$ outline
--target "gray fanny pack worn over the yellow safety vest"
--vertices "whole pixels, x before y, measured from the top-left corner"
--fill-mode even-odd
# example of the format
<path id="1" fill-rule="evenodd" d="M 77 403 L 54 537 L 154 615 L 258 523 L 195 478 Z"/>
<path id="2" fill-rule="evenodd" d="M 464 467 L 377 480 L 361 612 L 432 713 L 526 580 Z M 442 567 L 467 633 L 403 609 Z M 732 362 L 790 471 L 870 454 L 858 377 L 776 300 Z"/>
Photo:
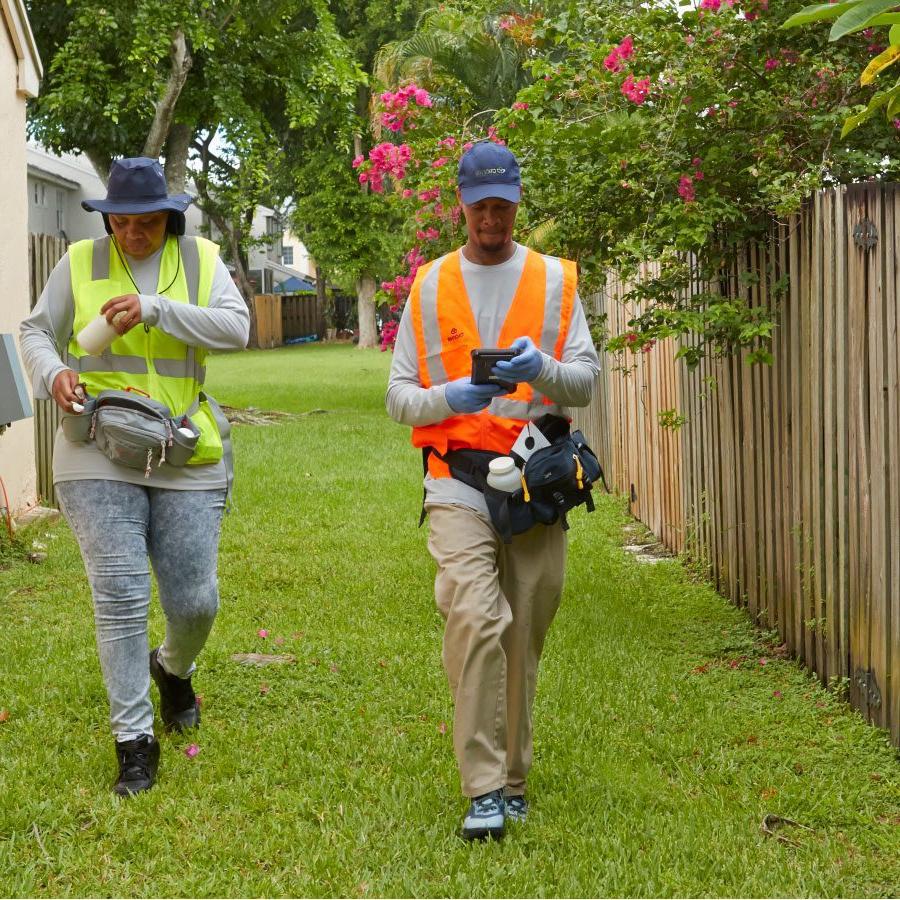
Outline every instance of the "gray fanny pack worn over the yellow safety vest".
<path id="1" fill-rule="evenodd" d="M 64 416 L 63 434 L 76 443 L 94 441 L 114 463 L 142 469 L 184 466 L 194 455 L 200 431 L 188 410 L 173 416 L 164 403 L 132 391 L 101 391 L 84 402 L 84 412 Z M 230 479 L 229 479 L 230 482 Z"/>

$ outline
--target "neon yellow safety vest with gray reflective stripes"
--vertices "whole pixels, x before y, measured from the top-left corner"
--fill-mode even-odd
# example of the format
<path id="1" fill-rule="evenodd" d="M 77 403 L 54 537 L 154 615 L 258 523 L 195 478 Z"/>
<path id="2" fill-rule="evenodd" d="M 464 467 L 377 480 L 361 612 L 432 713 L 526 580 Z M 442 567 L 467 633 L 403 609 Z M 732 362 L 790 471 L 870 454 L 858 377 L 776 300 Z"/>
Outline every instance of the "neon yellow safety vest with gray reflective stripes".
<path id="1" fill-rule="evenodd" d="M 188 465 L 222 458 L 222 436 L 200 392 L 206 377 L 206 353 L 152 326 L 138 325 L 112 342 L 101 356 L 81 348 L 75 335 L 100 314 L 100 307 L 123 294 L 136 294 L 124 257 L 111 237 L 78 241 L 69 247 L 75 321 L 66 364 L 78 373 L 88 393 L 132 388 L 165 403 L 173 416 L 189 413 L 200 430 Z M 199 237 L 166 236 L 157 293 L 176 303 L 208 306 L 219 247 Z"/>

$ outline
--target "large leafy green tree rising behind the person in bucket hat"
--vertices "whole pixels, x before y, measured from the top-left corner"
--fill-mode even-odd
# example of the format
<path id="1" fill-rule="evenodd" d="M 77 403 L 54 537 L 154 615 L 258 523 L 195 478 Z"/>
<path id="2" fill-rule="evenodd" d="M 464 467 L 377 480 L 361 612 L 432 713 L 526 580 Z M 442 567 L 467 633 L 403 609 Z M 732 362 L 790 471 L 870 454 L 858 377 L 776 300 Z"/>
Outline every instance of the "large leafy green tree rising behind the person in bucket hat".
<path id="1" fill-rule="evenodd" d="M 30 0 L 46 79 L 32 134 L 83 151 L 105 178 L 115 156 L 189 160 L 201 204 L 239 276 L 258 204 L 278 206 L 304 132 L 355 100 L 361 74 L 325 0 Z M 249 289 L 244 277 L 245 293 Z"/>

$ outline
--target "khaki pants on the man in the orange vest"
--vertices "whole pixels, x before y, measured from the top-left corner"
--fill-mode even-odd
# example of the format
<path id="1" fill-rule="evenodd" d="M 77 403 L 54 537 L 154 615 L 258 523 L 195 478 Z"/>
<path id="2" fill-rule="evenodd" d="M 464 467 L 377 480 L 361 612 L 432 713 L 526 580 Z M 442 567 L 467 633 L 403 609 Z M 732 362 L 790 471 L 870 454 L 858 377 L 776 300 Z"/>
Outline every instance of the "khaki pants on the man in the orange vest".
<path id="1" fill-rule="evenodd" d="M 522 794 L 538 661 L 562 594 L 565 532 L 538 525 L 504 544 L 466 507 L 429 504 L 428 518 L 463 794 Z"/>

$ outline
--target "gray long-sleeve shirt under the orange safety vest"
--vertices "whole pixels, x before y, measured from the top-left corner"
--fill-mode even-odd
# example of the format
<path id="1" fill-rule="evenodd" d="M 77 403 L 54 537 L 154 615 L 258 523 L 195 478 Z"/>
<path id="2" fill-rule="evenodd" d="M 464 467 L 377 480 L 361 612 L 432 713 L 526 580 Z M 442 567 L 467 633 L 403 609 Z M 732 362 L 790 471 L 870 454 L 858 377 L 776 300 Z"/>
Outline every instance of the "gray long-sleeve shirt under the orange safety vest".
<path id="1" fill-rule="evenodd" d="M 456 251 L 459 252 L 459 251 Z M 516 244 L 513 255 L 495 266 L 470 262 L 460 252 L 460 268 L 482 344 L 496 347 L 525 266 L 527 249 Z M 428 277 L 436 275 L 432 270 Z M 600 371 L 600 361 L 577 294 L 569 333 L 559 360 L 544 354 L 534 388 L 561 406 L 587 406 Z M 403 310 L 388 381 L 388 415 L 402 425 L 433 425 L 457 415 L 447 403 L 446 385 L 422 387 L 409 304 Z M 450 503 L 488 515 L 484 495 L 455 478 L 425 478 L 426 505 Z"/>

